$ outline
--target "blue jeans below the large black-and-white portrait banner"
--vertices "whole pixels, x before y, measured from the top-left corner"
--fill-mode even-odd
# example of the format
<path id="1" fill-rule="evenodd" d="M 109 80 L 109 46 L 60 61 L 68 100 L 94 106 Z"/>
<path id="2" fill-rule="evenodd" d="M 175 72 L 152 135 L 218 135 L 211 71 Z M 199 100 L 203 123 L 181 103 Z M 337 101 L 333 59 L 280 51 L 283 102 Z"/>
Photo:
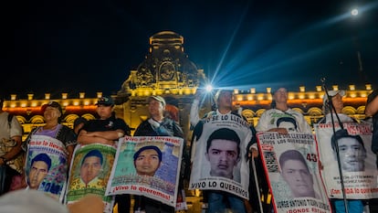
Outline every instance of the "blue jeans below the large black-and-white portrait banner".
<path id="1" fill-rule="evenodd" d="M 226 192 L 208 191 L 207 213 L 222 213 L 226 209 L 231 209 L 234 213 L 245 213 L 244 201 L 241 197 L 236 197 Z"/>

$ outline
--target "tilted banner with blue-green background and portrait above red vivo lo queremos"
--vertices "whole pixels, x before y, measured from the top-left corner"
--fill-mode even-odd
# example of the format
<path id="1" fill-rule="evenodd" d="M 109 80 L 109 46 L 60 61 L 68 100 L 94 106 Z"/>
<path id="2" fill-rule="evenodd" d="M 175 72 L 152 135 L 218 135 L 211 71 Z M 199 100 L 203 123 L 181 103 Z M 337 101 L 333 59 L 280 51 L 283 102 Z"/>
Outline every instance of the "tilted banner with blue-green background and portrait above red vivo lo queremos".
<path id="1" fill-rule="evenodd" d="M 107 195 L 143 195 L 175 207 L 182 154 L 182 138 L 121 138 Z"/>

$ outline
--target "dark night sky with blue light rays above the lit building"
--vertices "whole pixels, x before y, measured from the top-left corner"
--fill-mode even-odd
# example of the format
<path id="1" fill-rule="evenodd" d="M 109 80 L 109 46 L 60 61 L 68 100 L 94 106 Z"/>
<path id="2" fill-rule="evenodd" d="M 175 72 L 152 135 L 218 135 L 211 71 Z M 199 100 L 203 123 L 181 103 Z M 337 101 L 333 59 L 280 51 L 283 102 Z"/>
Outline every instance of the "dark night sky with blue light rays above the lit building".
<path id="1" fill-rule="evenodd" d="M 323 77 L 328 87 L 378 87 L 377 0 L 11 2 L 1 9 L 3 47 L 15 41 L 2 59 L 5 95 L 116 93 L 163 30 L 184 37 L 215 87 L 313 91 Z"/>

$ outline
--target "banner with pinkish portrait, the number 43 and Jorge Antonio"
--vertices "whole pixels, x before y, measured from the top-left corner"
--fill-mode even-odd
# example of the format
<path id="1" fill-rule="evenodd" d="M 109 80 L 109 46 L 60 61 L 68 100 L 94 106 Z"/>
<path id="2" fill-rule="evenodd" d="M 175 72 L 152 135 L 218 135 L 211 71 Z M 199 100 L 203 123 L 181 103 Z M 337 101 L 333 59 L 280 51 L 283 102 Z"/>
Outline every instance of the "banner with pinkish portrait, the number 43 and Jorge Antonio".
<path id="1" fill-rule="evenodd" d="M 312 134 L 258 133 L 257 141 L 275 212 L 331 212 Z"/>

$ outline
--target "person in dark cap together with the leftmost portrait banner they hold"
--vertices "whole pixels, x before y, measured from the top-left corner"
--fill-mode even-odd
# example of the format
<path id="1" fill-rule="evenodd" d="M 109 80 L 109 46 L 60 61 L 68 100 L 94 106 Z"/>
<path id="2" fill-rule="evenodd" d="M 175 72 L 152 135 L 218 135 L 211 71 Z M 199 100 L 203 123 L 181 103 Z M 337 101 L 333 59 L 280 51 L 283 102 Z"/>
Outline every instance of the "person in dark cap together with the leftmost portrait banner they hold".
<path id="1" fill-rule="evenodd" d="M 27 156 L 27 184 L 29 188 L 47 192 L 62 200 L 66 191 L 64 186 L 67 182 L 68 167 L 77 144 L 76 136 L 72 129 L 60 124 L 63 111 L 57 101 L 44 104 L 41 110 L 46 124 L 29 133 L 23 144 Z M 35 173 L 44 175 L 39 176 Z M 39 176 L 38 180 L 35 179 L 36 176 Z"/>

